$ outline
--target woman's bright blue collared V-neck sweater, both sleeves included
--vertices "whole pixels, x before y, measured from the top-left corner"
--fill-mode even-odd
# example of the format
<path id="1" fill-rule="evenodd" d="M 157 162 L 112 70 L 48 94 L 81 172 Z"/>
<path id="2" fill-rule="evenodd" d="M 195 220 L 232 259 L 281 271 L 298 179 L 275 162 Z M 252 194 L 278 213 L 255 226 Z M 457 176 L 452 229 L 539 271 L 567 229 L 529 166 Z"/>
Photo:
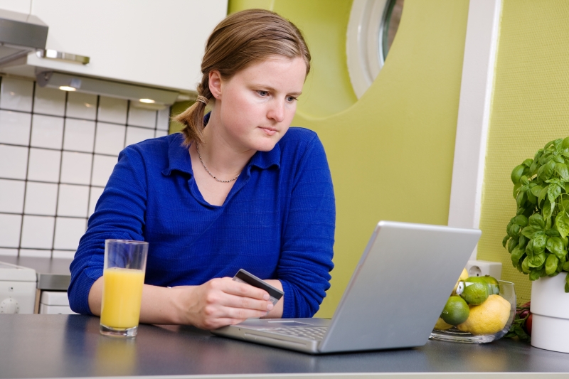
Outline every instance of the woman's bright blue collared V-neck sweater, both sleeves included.
<path id="1" fill-rule="evenodd" d="M 144 282 L 199 285 L 240 268 L 279 279 L 283 317 L 310 317 L 329 289 L 334 190 L 317 134 L 290 128 L 257 151 L 221 206 L 204 201 L 181 134 L 128 146 L 100 196 L 71 263 L 71 309 L 102 276 L 105 240 L 149 242 Z"/>

